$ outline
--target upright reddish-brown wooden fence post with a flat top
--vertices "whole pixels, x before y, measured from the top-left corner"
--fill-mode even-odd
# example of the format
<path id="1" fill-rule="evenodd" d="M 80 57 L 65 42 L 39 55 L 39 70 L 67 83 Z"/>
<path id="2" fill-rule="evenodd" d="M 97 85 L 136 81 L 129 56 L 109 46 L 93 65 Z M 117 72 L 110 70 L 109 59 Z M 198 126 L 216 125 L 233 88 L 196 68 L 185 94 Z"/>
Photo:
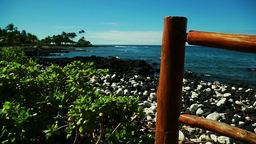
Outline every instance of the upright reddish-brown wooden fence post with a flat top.
<path id="1" fill-rule="evenodd" d="M 187 18 L 164 17 L 160 81 L 157 91 L 156 144 L 177 144 Z"/>

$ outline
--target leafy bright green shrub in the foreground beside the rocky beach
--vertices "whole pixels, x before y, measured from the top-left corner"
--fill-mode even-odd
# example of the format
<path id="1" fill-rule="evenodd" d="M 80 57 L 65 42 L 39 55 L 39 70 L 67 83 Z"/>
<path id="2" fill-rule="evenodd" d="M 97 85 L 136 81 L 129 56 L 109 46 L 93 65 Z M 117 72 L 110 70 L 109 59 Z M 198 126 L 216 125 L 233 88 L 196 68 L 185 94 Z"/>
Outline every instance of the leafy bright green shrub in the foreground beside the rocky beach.
<path id="1" fill-rule="evenodd" d="M 90 83 L 108 70 L 74 61 L 42 71 L 32 60 L 22 64 L 20 49 L 9 50 L 14 54 L 0 52 L 2 143 L 154 143 L 140 131 L 144 112 L 138 98 L 100 94 Z"/>

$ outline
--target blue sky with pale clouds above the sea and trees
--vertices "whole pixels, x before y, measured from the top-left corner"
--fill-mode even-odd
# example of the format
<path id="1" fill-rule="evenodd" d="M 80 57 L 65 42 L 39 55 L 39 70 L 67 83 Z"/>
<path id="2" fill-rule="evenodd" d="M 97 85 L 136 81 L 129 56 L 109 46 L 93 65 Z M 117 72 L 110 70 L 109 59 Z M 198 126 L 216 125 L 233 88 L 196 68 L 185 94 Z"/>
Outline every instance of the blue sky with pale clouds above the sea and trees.
<path id="1" fill-rule="evenodd" d="M 0 27 L 13 23 L 41 40 L 85 30 L 92 44 L 161 45 L 164 16 L 187 31 L 256 35 L 256 0 L 0 0 Z"/>

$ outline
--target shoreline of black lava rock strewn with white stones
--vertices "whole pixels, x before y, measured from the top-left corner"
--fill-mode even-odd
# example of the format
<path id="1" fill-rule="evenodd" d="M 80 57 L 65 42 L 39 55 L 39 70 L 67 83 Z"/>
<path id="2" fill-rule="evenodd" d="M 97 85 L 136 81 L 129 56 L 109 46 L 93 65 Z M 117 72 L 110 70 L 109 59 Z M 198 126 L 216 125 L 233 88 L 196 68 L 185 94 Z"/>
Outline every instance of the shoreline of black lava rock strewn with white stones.
<path id="1" fill-rule="evenodd" d="M 34 54 L 31 50 L 29 52 L 31 55 L 28 56 L 38 56 L 36 50 Z M 26 54 L 28 54 L 28 51 Z M 77 56 L 74 58 L 31 57 L 31 59 L 37 60 L 38 67 L 42 70 L 51 64 L 66 66 L 74 60 L 94 62 L 98 69 L 108 68 L 109 75 L 94 77 L 90 80 L 92 86 L 106 85 L 107 90 L 97 89 L 100 93 L 139 96 L 139 106 L 146 112 L 144 122 L 147 127 L 144 130 L 154 129 L 157 114 L 156 91 L 159 78 L 154 76 L 155 69 L 145 61 L 97 56 Z M 256 133 L 256 87 L 246 84 L 210 83 L 196 79 L 194 73 L 184 72 L 181 111 Z M 198 144 L 243 144 L 184 124 L 180 124 L 180 140 L 198 142 Z"/>

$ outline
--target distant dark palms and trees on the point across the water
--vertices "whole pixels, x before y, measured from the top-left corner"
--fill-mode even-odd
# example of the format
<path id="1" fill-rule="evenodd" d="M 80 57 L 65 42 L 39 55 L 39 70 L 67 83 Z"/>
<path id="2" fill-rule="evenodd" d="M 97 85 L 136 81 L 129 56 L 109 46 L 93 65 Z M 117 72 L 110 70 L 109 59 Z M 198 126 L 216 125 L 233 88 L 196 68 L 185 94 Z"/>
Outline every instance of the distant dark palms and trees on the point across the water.
<path id="1" fill-rule="evenodd" d="M 5 29 L 0 28 L 0 46 L 92 46 L 89 41 L 86 41 L 84 38 L 84 30 L 78 32 L 80 34 L 80 39 L 75 42 L 77 34 L 75 32 L 62 32 L 58 35 L 47 36 L 42 40 L 39 40 L 38 37 L 34 34 L 27 33 L 26 30 L 21 32 L 18 30 L 14 24 L 8 24 Z"/>

